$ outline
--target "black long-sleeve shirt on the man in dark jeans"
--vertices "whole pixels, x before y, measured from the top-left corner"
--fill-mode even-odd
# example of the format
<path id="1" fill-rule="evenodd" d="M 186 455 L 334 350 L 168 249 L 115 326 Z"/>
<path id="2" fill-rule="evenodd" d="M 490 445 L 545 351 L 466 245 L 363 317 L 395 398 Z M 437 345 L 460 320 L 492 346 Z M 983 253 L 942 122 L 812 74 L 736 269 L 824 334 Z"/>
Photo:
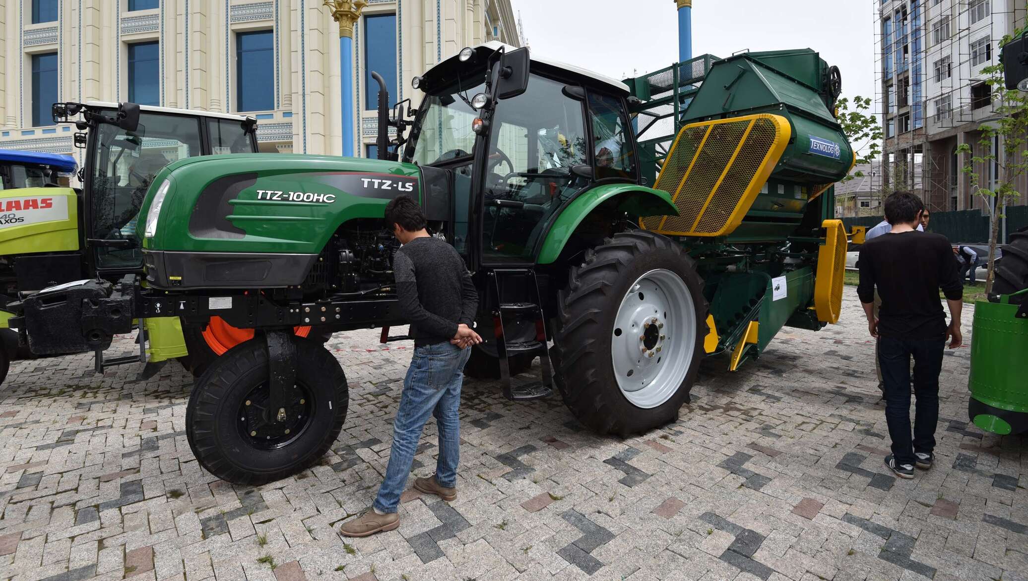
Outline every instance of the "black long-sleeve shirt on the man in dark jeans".
<path id="1" fill-rule="evenodd" d="M 939 298 L 963 297 L 960 269 L 949 241 L 942 234 L 902 232 L 884 234 L 860 246 L 857 261 L 860 283 L 856 293 L 865 304 L 882 299 L 878 334 L 896 339 L 946 337 L 946 313 Z"/>

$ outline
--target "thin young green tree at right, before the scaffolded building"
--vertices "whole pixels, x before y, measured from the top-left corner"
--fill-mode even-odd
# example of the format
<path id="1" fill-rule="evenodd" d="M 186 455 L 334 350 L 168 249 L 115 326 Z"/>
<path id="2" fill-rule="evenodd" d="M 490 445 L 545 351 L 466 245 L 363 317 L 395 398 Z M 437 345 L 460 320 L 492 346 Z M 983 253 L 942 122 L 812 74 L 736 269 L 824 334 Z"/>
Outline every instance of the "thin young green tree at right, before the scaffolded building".
<path id="1" fill-rule="evenodd" d="M 1005 36 L 1000 46 L 1012 38 L 1009 35 Z M 996 116 L 979 127 L 982 131 L 979 155 L 975 155 L 968 144 L 958 147 L 957 153 L 970 154 L 970 160 L 962 170 L 970 179 L 971 192 L 990 208 L 989 262 L 985 278 L 985 292 L 989 294 L 992 292 L 994 277 L 999 219 L 1002 218 L 1003 208 L 1021 197 L 1021 192 L 1017 189 L 1018 182 L 1028 172 L 1028 94 L 1006 88 L 1002 64 L 985 67 L 981 74 L 991 88 L 993 112 Z M 999 139 L 998 151 L 993 147 L 996 138 Z M 975 170 L 976 165 L 981 167 L 990 164 L 999 169 L 991 184 Z"/>

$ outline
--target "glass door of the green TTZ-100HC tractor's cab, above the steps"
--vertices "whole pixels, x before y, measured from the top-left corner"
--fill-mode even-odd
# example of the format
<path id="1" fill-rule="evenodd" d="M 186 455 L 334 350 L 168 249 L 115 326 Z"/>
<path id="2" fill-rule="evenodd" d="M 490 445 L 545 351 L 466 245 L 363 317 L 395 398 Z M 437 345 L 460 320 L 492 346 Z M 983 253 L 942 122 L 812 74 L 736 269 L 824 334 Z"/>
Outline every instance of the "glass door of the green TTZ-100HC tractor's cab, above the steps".
<path id="1" fill-rule="evenodd" d="M 534 264 L 550 219 L 587 183 L 582 94 L 533 74 L 523 94 L 499 102 L 479 196 L 484 266 Z"/>

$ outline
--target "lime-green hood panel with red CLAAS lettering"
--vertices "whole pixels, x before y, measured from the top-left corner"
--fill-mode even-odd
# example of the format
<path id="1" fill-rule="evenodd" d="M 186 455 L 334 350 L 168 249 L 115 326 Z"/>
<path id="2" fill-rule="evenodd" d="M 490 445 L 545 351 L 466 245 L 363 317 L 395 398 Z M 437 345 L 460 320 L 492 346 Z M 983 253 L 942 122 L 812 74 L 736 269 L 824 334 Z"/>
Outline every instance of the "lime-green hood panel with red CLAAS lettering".
<path id="1" fill-rule="evenodd" d="M 0 191 L 0 256 L 78 249 L 78 197 L 71 188 Z"/>

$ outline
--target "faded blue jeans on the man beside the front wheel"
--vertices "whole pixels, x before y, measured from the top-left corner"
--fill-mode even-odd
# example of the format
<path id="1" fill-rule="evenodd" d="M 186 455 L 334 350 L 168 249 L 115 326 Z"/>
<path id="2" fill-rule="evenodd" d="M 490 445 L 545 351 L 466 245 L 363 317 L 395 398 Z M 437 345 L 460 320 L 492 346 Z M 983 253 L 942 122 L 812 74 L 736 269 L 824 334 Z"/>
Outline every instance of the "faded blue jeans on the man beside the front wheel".
<path id="1" fill-rule="evenodd" d="M 389 454 L 386 480 L 378 489 L 374 507 L 380 512 L 396 512 L 400 495 L 407 486 L 410 465 L 414 462 L 417 440 L 421 438 L 429 416 L 435 416 L 439 429 L 439 459 L 436 481 L 456 486 L 456 465 L 461 458 L 461 383 L 464 365 L 471 349 L 449 343 L 437 343 L 414 349 L 414 357 L 403 379 L 400 409 L 393 423 L 393 448 Z"/>

